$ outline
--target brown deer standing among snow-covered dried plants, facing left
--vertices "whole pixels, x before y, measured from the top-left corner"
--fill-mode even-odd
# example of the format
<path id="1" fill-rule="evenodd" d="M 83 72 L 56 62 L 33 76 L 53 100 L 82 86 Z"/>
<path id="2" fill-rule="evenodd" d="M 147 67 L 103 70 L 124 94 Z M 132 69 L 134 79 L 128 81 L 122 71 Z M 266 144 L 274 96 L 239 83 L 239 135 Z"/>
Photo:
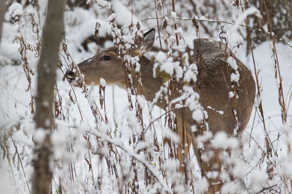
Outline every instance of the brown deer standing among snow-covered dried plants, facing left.
<path id="1" fill-rule="evenodd" d="M 163 80 L 160 76 L 153 77 L 154 62 L 150 61 L 143 55 L 149 51 L 155 40 L 155 29 L 151 29 L 144 34 L 142 43 L 137 44 L 137 47 L 129 50 L 132 56 L 139 56 L 140 75 L 143 87 L 143 95 L 147 101 L 152 101 L 155 93 L 159 91 L 160 86 L 163 85 Z M 234 120 L 234 110 L 240 126 L 238 134 L 242 132 L 250 119 L 252 108 L 255 99 L 255 81 L 251 71 L 232 54 L 231 50 L 222 41 L 215 41 L 211 39 L 194 39 L 193 55 L 189 58 L 191 63 L 196 63 L 198 68 L 197 81 L 192 84 L 194 90 L 199 93 L 199 102 L 208 114 L 206 122 L 209 125 L 209 131 L 216 133 L 218 131 L 225 131 L 228 136 L 234 136 L 234 128 L 236 122 Z M 143 49 L 141 49 L 143 48 Z M 227 63 L 229 54 L 238 65 L 238 72 L 240 75 L 239 86 L 237 88 L 237 96 L 235 100 L 230 98 L 229 92 L 234 87 L 234 81 L 230 79 L 232 67 Z M 79 63 L 77 66 L 80 73 L 84 75 L 84 80 L 87 85 L 100 85 L 100 78 L 106 80 L 107 85 L 117 85 L 123 89 L 127 89 L 127 80 L 125 76 L 125 68 L 123 59 L 119 57 L 119 51 L 116 46 L 105 49 L 97 55 Z M 132 71 L 135 73 L 135 71 Z M 76 73 L 68 70 L 65 76 L 72 86 L 81 86 L 80 82 L 76 79 Z M 138 86 L 138 78 L 132 76 L 133 85 Z M 172 82 L 173 96 L 176 98 L 181 95 L 175 88 L 181 83 Z M 171 86 L 169 86 L 171 87 Z M 165 101 L 158 101 L 156 104 L 161 109 L 167 106 Z M 210 108 L 211 107 L 211 108 Z M 236 107 L 236 108 L 235 108 Z M 201 166 L 202 175 L 207 172 L 217 170 L 220 172 L 221 161 L 219 159 L 219 151 L 213 150 L 213 157 L 209 161 L 201 159 L 200 150 L 197 148 L 196 136 L 204 133 L 200 123 L 192 118 L 192 112 L 188 108 L 182 108 L 181 112 L 178 111 L 177 116 L 177 134 L 180 138 L 180 145 L 178 147 L 178 159 L 180 161 L 179 171 L 185 173 L 183 168 L 184 158 L 188 154 L 190 145 L 193 145 L 193 150 L 196 155 L 197 161 Z M 218 110 L 218 111 L 215 111 Z M 223 111 L 223 114 L 219 111 Z M 191 130 L 193 125 L 197 126 L 197 131 Z M 238 135 L 237 134 L 237 135 Z M 185 147 L 185 143 L 188 146 Z M 184 152 L 183 152 L 184 150 Z M 216 164 L 216 165 L 214 165 Z M 204 173 L 205 172 L 205 173 Z M 222 180 L 218 177 L 208 178 L 209 193 L 216 193 L 222 187 Z M 214 184 L 216 183 L 216 184 Z M 219 184 L 218 184 L 219 183 Z"/>

